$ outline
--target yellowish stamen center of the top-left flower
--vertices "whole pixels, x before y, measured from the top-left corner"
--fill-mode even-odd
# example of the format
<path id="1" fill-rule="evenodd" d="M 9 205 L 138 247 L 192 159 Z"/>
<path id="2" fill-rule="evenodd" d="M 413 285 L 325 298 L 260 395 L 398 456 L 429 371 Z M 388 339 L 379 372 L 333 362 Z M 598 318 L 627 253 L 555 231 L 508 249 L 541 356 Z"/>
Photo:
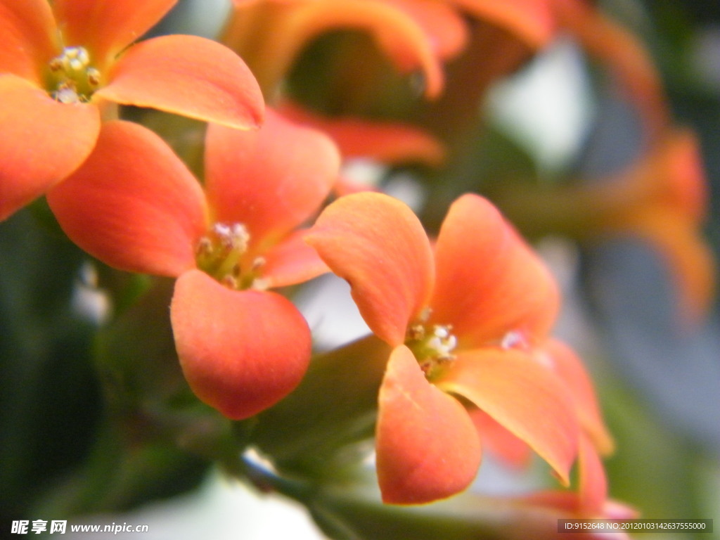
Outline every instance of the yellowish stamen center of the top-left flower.
<path id="1" fill-rule="evenodd" d="M 66 47 L 48 64 L 50 96 L 60 103 L 86 103 L 100 85 L 101 74 L 91 66 L 83 47 Z"/>

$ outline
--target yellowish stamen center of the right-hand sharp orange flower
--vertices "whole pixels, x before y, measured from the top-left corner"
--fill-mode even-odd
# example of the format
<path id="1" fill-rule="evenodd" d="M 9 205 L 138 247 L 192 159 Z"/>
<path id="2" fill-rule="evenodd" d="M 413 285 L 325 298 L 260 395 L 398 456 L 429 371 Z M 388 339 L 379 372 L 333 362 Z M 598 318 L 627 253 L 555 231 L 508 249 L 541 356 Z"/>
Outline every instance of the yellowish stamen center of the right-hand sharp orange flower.
<path id="1" fill-rule="evenodd" d="M 451 325 L 427 325 L 426 320 L 427 317 L 421 317 L 418 323 L 408 327 L 405 345 L 413 351 L 420 368 L 430 378 L 438 366 L 455 359 L 453 351 L 457 338 Z"/>

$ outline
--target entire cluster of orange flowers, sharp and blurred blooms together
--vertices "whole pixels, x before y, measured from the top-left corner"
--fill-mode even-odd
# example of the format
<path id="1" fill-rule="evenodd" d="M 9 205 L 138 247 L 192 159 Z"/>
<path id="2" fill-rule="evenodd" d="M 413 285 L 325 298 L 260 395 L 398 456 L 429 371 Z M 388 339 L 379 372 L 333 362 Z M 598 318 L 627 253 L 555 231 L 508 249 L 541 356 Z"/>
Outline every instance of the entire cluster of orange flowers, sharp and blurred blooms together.
<path id="1" fill-rule="evenodd" d="M 0 219 L 45 195 L 87 253 L 176 278 L 183 373 L 234 420 L 287 397 L 310 364 L 311 330 L 274 289 L 332 271 L 390 346 L 375 431 L 384 502 L 465 490 L 482 444 L 516 460 L 532 449 L 564 485 L 577 459 L 578 489 L 537 504 L 627 515 L 608 502 L 600 456 L 613 442 L 593 386 L 550 336 L 559 292 L 538 256 L 480 195 L 456 199 L 431 239 L 408 206 L 362 192 L 341 165 L 438 163 L 490 82 L 570 32 L 626 82 L 652 134 L 644 161 L 614 184 L 572 192 L 597 209 L 585 230 L 657 240 L 688 310 L 700 310 L 711 272 L 698 274 L 709 264 L 694 233 L 695 143 L 668 120 L 642 48 L 582 0 L 234 0 L 221 40 L 136 42 L 175 3 L 0 1 Z M 422 74 L 415 127 L 319 117 L 283 95 L 302 48 L 336 28 L 363 30 L 397 71 Z M 358 89 L 377 87 L 384 73 L 361 59 L 346 70 Z M 121 120 L 120 106 L 207 122 L 202 174 L 156 132 Z"/>

